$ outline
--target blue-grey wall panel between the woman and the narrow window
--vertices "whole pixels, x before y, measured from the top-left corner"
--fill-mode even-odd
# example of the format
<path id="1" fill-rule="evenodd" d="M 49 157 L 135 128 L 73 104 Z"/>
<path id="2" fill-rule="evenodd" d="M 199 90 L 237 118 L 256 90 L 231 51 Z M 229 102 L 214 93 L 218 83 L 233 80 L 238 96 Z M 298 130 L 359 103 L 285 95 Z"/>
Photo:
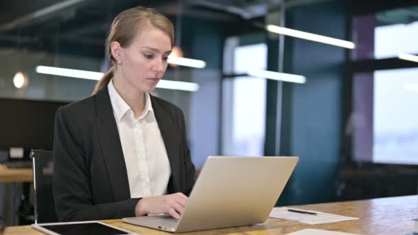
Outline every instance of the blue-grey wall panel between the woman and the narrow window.
<path id="1" fill-rule="evenodd" d="M 189 148 L 192 160 L 201 168 L 209 155 L 219 155 L 221 66 L 224 27 L 221 23 L 185 19 L 181 47 L 186 57 L 204 60 L 205 69 L 188 69 L 199 91 L 190 96 Z"/>

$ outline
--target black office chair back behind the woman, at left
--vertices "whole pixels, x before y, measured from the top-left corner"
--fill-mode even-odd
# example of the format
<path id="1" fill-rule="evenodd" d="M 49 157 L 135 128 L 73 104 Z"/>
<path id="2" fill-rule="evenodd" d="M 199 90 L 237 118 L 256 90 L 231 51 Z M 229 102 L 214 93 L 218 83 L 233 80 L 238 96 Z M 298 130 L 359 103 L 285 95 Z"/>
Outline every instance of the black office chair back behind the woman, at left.
<path id="1" fill-rule="evenodd" d="M 31 150 L 30 157 L 34 170 L 35 223 L 58 222 L 52 194 L 52 151 Z"/>

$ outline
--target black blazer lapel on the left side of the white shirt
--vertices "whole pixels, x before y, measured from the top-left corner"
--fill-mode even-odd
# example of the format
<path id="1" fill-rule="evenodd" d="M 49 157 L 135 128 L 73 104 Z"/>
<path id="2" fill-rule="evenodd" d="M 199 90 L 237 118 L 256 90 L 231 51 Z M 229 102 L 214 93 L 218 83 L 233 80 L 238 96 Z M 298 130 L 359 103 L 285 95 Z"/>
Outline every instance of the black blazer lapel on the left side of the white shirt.
<path id="1" fill-rule="evenodd" d="M 118 126 L 110 101 L 109 91 L 103 87 L 96 95 L 96 123 L 98 126 L 98 139 L 104 165 L 109 174 L 109 181 L 115 201 L 122 201 L 131 198 L 129 190 L 128 173 L 124 161 L 122 144 Z"/>

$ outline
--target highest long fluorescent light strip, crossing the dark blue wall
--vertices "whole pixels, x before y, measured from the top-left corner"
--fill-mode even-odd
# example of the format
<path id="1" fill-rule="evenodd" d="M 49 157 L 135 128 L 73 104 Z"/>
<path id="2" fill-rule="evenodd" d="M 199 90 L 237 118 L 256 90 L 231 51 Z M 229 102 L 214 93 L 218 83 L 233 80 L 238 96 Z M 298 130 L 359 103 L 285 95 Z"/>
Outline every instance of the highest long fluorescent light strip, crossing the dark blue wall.
<path id="1" fill-rule="evenodd" d="M 274 32 L 276 34 L 284 34 L 287 36 L 294 36 L 295 38 L 303 38 L 310 41 L 316 41 L 318 43 L 326 43 L 330 45 L 336 45 L 338 47 L 345 47 L 348 49 L 354 49 L 355 44 L 350 41 L 344 41 L 337 38 L 331 38 L 329 36 L 322 36 L 319 34 L 311 34 L 308 32 L 303 32 L 299 30 L 292 30 L 286 27 L 279 27 L 276 25 L 267 25 L 266 29 L 270 32 Z"/>

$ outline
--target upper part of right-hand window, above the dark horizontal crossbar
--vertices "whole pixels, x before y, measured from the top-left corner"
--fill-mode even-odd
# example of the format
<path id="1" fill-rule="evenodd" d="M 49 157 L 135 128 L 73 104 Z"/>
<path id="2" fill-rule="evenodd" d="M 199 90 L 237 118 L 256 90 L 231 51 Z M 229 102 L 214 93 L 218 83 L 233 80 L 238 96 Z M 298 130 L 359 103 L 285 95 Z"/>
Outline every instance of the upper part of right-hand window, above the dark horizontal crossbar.
<path id="1" fill-rule="evenodd" d="M 418 54 L 418 7 L 398 8 L 353 17 L 353 60 Z"/>

